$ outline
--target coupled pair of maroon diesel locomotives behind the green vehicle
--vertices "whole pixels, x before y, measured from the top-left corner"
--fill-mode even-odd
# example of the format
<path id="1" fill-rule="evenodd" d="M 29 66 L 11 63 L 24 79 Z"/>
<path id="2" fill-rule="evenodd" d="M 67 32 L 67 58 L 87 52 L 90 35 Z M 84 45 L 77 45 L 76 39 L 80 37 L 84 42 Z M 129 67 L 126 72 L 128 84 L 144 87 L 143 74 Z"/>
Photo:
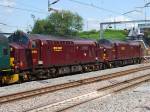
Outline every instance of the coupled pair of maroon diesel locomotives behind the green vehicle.
<path id="1" fill-rule="evenodd" d="M 76 72 L 140 63 L 136 42 L 62 39 L 39 34 L 14 33 L 9 37 L 10 58 L 21 80 L 36 80 Z"/>

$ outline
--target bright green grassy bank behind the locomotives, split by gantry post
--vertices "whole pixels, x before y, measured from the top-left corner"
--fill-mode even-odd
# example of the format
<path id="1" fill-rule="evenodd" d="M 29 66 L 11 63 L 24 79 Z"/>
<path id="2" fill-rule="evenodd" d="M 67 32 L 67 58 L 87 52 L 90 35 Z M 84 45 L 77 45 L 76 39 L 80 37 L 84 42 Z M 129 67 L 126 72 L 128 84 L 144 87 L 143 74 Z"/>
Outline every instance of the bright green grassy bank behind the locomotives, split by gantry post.
<path id="1" fill-rule="evenodd" d="M 82 38 L 91 38 L 98 40 L 100 38 L 100 32 L 91 30 L 91 31 L 84 31 L 79 33 L 79 36 Z M 110 40 L 126 40 L 126 32 L 124 30 L 106 30 L 104 32 L 104 38 Z"/>

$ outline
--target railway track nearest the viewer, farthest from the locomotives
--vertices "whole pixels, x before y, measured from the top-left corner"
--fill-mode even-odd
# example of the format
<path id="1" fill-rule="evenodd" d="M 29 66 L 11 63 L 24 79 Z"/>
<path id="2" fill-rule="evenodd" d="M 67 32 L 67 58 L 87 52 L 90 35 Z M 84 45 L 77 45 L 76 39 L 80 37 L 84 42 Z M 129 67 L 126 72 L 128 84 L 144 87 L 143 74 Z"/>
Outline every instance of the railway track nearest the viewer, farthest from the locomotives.
<path id="1" fill-rule="evenodd" d="M 111 86 L 107 86 L 104 88 L 100 88 L 94 92 L 84 94 L 84 95 L 81 95 L 78 97 L 74 97 L 71 99 L 67 99 L 67 100 L 64 100 L 64 101 L 61 101 L 58 103 L 50 104 L 50 105 L 43 106 L 40 108 L 34 108 L 32 110 L 28 110 L 28 112 L 50 112 L 50 111 L 51 112 L 63 112 L 63 111 L 67 112 L 68 109 L 76 107 L 80 104 L 92 101 L 97 98 L 110 96 L 112 93 L 127 89 L 127 88 L 135 86 L 135 85 L 138 85 L 147 80 L 150 80 L 150 74 L 144 75 L 141 77 L 137 77 L 134 79 L 130 79 L 127 81 L 123 81 L 123 82 L 120 82 L 120 83 L 117 83 L 117 84 L 114 84 Z"/>

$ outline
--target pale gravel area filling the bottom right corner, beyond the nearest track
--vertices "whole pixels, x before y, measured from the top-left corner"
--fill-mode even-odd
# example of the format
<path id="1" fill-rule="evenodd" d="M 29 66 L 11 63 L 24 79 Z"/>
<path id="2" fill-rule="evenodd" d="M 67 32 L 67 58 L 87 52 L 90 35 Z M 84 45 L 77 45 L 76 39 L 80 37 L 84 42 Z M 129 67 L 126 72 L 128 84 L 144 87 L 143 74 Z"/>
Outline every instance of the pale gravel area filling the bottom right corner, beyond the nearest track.
<path id="1" fill-rule="evenodd" d="M 63 112 L 150 112 L 150 81 Z"/>

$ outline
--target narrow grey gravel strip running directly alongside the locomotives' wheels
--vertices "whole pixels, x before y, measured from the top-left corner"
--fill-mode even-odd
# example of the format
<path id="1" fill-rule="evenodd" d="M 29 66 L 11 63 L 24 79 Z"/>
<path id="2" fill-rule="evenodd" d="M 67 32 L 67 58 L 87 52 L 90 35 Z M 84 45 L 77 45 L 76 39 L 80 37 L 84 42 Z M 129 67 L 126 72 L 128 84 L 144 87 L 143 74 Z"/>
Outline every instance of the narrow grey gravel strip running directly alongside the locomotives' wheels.
<path id="1" fill-rule="evenodd" d="M 0 87 L 0 96 L 12 94 L 12 93 L 16 93 L 16 92 L 21 92 L 21 91 L 27 91 L 27 90 L 31 90 L 31 89 L 36 89 L 36 88 L 40 88 L 40 87 L 44 87 L 44 86 L 48 86 L 48 85 L 62 84 L 62 83 L 70 82 L 70 81 L 90 78 L 93 76 L 100 76 L 100 75 L 104 75 L 104 74 L 120 72 L 120 71 L 124 71 L 127 69 L 139 68 L 139 67 L 143 67 L 143 66 L 150 66 L 150 63 L 130 65 L 130 66 L 119 67 L 119 68 L 114 68 L 114 69 L 107 69 L 107 70 L 101 70 L 101 71 L 84 73 L 84 74 L 76 74 L 73 76 L 66 76 L 66 77 L 48 79 L 48 80 L 43 80 L 43 81 L 26 82 L 23 84 L 16 84 L 16 85 L 11 85 L 11 86 L 6 86 L 6 87 Z"/>

